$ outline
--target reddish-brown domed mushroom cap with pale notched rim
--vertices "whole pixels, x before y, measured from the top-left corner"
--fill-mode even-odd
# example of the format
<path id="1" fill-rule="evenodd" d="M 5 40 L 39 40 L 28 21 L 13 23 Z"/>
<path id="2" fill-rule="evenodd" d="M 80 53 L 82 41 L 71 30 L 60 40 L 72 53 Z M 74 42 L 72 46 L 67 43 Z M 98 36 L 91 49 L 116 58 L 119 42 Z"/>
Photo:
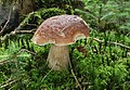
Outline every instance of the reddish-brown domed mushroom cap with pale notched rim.
<path id="1" fill-rule="evenodd" d="M 39 46 L 73 44 L 89 36 L 89 26 L 77 15 L 57 15 L 46 20 L 36 30 L 32 42 Z"/>

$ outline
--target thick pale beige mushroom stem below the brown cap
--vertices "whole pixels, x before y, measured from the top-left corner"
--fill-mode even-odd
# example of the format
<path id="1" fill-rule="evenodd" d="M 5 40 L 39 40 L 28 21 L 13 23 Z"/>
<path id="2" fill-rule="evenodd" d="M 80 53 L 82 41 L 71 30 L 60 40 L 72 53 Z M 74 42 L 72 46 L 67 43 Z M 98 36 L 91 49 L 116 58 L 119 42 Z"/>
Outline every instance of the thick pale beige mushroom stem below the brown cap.
<path id="1" fill-rule="evenodd" d="M 68 46 L 52 44 L 47 61 L 49 63 L 49 67 L 54 70 L 67 69 L 69 62 Z"/>

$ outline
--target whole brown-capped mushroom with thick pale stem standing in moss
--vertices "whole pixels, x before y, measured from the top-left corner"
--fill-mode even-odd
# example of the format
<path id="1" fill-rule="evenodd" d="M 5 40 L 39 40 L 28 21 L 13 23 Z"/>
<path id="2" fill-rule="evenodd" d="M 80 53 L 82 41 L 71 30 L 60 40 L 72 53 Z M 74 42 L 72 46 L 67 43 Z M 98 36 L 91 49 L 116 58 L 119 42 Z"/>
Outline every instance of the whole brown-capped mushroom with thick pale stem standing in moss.
<path id="1" fill-rule="evenodd" d="M 52 43 L 47 62 L 54 70 L 68 68 L 68 44 L 89 36 L 87 23 L 77 15 L 57 15 L 46 20 L 36 30 L 32 42 L 39 46 Z"/>

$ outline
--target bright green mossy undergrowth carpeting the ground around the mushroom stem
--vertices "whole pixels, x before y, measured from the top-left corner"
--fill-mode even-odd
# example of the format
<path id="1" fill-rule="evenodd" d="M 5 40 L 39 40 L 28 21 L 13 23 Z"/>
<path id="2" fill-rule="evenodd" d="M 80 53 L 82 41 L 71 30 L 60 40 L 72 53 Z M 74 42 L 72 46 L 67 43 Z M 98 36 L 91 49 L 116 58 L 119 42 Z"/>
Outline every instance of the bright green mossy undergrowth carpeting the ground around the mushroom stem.
<path id="1" fill-rule="evenodd" d="M 91 37 L 100 38 L 104 42 L 100 43 Z M 104 33 L 92 30 L 87 40 L 79 40 L 69 46 L 73 69 L 82 88 L 86 90 L 130 89 L 129 50 L 105 43 L 107 39 L 129 46 L 129 38 L 123 35 L 118 37 L 116 31 L 107 31 L 104 36 Z M 50 46 L 35 46 L 31 36 L 28 42 L 26 36 L 23 36 L 23 42 L 9 40 L 6 48 L 0 48 L 1 90 L 78 90 L 78 85 L 69 70 L 54 72 L 48 68 L 46 59 Z M 77 49 L 79 46 L 87 50 L 86 55 Z"/>

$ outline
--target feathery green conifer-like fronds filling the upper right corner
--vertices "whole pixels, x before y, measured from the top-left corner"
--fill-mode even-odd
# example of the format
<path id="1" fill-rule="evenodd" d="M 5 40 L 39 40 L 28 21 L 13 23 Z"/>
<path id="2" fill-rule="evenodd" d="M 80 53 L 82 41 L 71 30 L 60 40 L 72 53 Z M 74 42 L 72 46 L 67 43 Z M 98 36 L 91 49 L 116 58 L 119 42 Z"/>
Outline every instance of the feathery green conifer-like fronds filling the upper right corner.
<path id="1" fill-rule="evenodd" d="M 83 0 L 84 10 L 76 9 L 91 27 L 101 31 L 128 33 L 130 25 L 130 2 L 114 0 Z M 89 21 L 90 20 L 90 21 Z"/>

